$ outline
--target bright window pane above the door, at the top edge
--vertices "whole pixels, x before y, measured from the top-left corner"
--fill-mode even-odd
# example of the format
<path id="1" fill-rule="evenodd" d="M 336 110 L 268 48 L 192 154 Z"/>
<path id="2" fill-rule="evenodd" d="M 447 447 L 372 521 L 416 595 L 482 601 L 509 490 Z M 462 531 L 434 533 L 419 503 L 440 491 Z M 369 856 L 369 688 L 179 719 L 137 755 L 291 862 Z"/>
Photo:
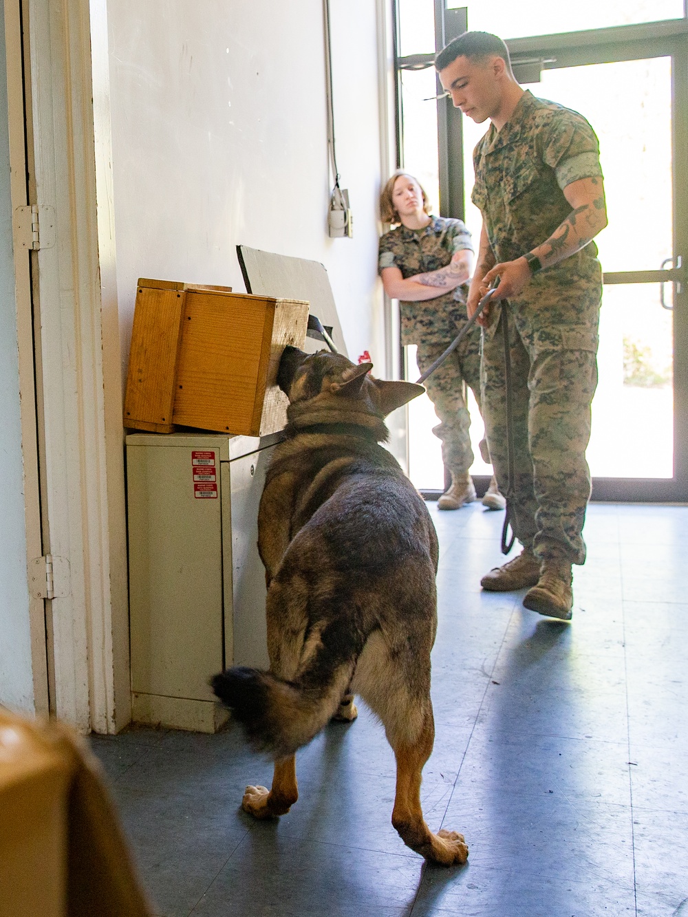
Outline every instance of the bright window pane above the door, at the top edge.
<path id="1" fill-rule="evenodd" d="M 406 0 L 413 5 L 413 0 Z M 419 4 L 418 4 L 419 5 Z M 591 28 L 630 26 L 662 19 L 682 19 L 683 0 L 449 0 L 447 6 L 468 7 L 468 28 L 495 32 L 502 39 L 556 35 Z"/>

